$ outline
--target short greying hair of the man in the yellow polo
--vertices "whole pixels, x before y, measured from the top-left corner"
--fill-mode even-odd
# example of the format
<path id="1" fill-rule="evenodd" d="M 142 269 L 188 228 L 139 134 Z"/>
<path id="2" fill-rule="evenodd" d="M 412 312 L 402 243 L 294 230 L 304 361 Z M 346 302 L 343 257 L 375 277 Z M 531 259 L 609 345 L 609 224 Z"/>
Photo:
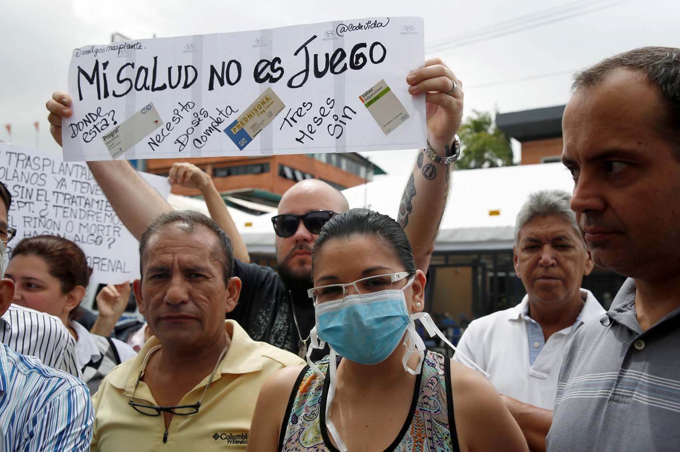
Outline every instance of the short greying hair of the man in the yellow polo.
<path id="1" fill-rule="evenodd" d="M 210 230 L 218 239 L 220 244 L 220 249 L 214 250 L 216 254 L 219 254 L 220 260 L 222 260 L 223 266 L 223 276 L 224 284 L 231 279 L 233 276 L 234 269 L 234 249 L 231 246 L 231 240 L 228 235 L 216 222 L 207 218 L 203 213 L 194 212 L 190 210 L 174 210 L 170 212 L 158 215 L 158 217 L 152 221 L 146 228 L 143 234 L 141 234 L 141 239 L 139 239 L 139 275 L 143 277 L 143 264 L 142 256 L 146 251 L 148 241 L 154 235 L 161 232 L 164 228 L 169 226 L 175 226 L 180 230 L 187 233 L 186 240 L 195 240 L 192 238 L 191 234 L 197 231 L 199 227 L 204 227 Z"/>

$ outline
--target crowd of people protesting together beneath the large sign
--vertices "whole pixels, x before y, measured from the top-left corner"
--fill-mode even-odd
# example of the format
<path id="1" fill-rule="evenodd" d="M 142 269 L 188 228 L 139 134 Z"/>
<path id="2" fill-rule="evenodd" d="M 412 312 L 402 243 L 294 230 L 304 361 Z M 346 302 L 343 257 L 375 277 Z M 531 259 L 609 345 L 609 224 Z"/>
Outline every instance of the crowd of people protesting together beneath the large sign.
<path id="1" fill-rule="evenodd" d="M 173 211 L 126 161 L 88 162 L 140 256 L 89 328 L 75 315 L 84 252 L 41 235 L 7 256 L 0 181 L 0 450 L 677 450 L 680 49 L 577 73 L 562 126 L 573 194 L 526 200 L 513 245 L 526 296 L 474 319 L 453 359 L 415 321 L 456 348 L 424 307 L 462 83 L 438 58 L 405 82 L 426 99 L 428 145 L 398 212 L 303 180 L 272 218 L 276 269 L 250 263 L 198 167 L 175 164 L 169 181 L 201 190 L 211 218 Z M 71 98 L 46 106 L 61 144 Z M 581 288 L 594 266 L 628 277 L 608 311 Z M 146 323 L 120 341 L 131 291 Z"/>

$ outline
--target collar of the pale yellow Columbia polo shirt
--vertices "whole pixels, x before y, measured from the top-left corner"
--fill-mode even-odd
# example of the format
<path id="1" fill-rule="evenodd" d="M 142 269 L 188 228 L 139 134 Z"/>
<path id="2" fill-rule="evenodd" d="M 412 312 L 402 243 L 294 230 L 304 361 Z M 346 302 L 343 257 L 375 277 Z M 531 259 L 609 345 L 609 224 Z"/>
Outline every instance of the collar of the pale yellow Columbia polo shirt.
<path id="1" fill-rule="evenodd" d="M 262 353 L 260 353 L 259 344 L 253 341 L 252 338 L 248 336 L 248 333 L 234 320 L 224 321 L 224 330 L 231 337 L 231 343 L 213 382 L 220 379 L 220 375 L 224 374 L 240 375 L 262 370 Z M 122 372 L 116 372 L 110 376 L 109 382 L 114 385 L 114 387 L 124 389 L 126 393 L 132 394 L 144 358 L 150 349 L 157 345 L 161 345 L 158 338 L 156 336 L 150 337 L 143 347 L 141 347 L 137 356 L 132 358 L 133 366 L 131 367 L 131 372 L 127 375 Z M 209 378 L 210 375 L 206 375 L 197 387 L 205 385 Z"/>

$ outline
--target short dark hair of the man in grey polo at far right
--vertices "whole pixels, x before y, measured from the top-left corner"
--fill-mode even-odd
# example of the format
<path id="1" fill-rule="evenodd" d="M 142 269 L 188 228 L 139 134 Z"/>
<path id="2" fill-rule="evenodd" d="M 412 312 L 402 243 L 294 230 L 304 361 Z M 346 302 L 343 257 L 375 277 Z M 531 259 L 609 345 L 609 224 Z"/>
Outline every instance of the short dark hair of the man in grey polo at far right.
<path id="1" fill-rule="evenodd" d="M 662 94 L 668 107 L 668 124 L 665 124 L 664 130 L 676 142 L 673 149 L 680 159 L 680 48 L 641 47 L 611 56 L 577 72 L 572 90 L 600 84 L 612 71 L 621 68 L 644 73 Z"/>

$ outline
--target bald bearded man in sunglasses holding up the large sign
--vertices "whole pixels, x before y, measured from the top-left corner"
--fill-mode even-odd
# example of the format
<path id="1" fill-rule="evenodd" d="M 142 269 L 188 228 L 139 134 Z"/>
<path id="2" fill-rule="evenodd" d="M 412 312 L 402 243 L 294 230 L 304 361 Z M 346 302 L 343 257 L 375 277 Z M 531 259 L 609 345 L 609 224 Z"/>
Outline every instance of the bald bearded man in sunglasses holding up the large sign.
<path id="1" fill-rule="evenodd" d="M 446 205 L 452 163 L 460 153 L 456 131 L 462 119 L 462 84 L 439 58 L 406 77 L 413 96 L 424 95 L 428 147 L 418 152 L 401 199 L 398 220 L 411 240 L 418 268 L 426 271 Z M 56 91 L 46 107 L 50 132 L 61 144 L 61 121 L 73 111 L 68 94 Z M 92 174 L 123 224 L 135 237 L 157 215 L 171 207 L 124 161 L 88 162 Z M 311 288 L 311 247 L 321 227 L 335 213 L 348 209 L 338 190 L 318 179 L 290 188 L 273 218 L 277 271 L 238 260 L 234 275 L 243 281 L 235 319 L 255 341 L 264 341 L 305 355 L 314 310 Z M 434 221 L 433 221 L 434 220 Z"/>

